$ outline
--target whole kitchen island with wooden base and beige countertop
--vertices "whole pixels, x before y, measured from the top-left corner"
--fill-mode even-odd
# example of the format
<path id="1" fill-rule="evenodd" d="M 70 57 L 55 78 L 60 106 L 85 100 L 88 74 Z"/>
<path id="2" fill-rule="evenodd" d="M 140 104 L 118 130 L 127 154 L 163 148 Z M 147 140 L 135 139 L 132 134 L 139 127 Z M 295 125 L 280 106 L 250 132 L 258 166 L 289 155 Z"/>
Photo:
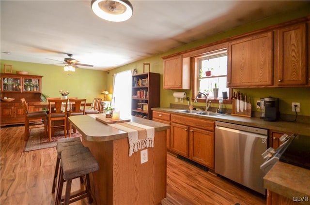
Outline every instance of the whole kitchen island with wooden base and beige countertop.
<path id="1" fill-rule="evenodd" d="M 92 180 L 96 203 L 160 204 L 166 198 L 166 130 L 170 125 L 131 117 L 131 122 L 155 128 L 154 147 L 146 148 L 148 161 L 141 164 L 140 150 L 129 157 L 128 133 L 97 121 L 97 116 L 103 115 L 68 117 L 99 163 Z"/>

